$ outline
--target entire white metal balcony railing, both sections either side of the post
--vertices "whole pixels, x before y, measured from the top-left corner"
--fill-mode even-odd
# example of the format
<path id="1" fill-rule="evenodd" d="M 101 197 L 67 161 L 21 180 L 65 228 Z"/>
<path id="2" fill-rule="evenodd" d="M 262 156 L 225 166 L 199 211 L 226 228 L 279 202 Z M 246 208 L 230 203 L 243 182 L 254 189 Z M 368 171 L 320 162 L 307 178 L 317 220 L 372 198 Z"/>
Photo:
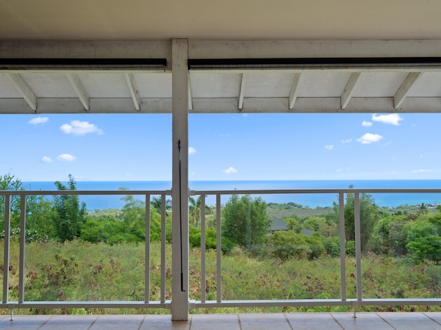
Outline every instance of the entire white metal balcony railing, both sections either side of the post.
<path id="1" fill-rule="evenodd" d="M 301 190 L 190 190 L 189 195 L 201 196 L 201 300 L 189 301 L 189 309 L 212 307 L 312 307 L 312 306 L 351 306 L 355 314 L 356 307 L 362 305 L 441 305 L 440 298 L 363 298 L 362 293 L 362 253 L 360 225 L 360 194 L 371 193 L 441 193 L 440 189 L 301 189 Z M 224 300 L 222 297 L 222 237 L 221 237 L 221 197 L 228 195 L 299 195 L 299 194 L 336 194 L 339 207 L 339 239 L 340 239 L 340 292 L 338 299 L 301 299 L 301 300 Z M 346 283 L 346 252 L 345 252 L 345 195 L 354 196 L 355 214 L 355 245 L 356 245 L 356 298 L 347 298 Z M 25 300 L 25 228 L 26 212 L 20 214 L 19 239 L 19 294 L 18 301 L 9 300 L 9 266 L 10 266 L 10 206 L 11 197 L 21 197 L 21 210 L 26 210 L 26 198 L 29 195 L 143 195 L 145 196 L 145 300 L 143 301 L 26 301 Z M 161 196 L 161 298 L 150 301 L 150 197 Z M 171 300 L 165 300 L 165 269 L 166 269 L 166 236 L 165 215 L 166 196 L 171 190 L 57 190 L 57 191 L 0 191 L 5 200 L 5 239 L 3 245 L 3 300 L 0 308 L 171 308 Z M 205 196 L 216 197 L 216 300 L 207 300 L 206 292 L 206 249 L 205 233 Z M 188 246 L 188 245 L 187 245 Z M 174 256 L 172 256 L 174 258 Z M 173 262 L 173 259 L 172 259 Z"/>

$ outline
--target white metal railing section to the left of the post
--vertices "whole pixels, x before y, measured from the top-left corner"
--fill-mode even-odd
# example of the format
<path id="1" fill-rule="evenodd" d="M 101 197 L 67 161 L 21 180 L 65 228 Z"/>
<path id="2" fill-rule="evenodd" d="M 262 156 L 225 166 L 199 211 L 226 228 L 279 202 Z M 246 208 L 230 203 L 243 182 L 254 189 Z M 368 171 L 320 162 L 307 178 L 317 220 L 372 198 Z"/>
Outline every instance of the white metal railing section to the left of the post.
<path id="1" fill-rule="evenodd" d="M 144 297 L 143 301 L 26 301 L 25 300 L 25 234 L 26 234 L 26 197 L 30 195 L 140 195 L 145 197 L 145 271 L 144 271 Z M 161 196 L 161 285 L 160 300 L 150 301 L 150 197 L 152 195 Z M 171 195 L 170 190 L 56 190 L 56 191 L 0 191 L 0 196 L 5 198 L 5 234 L 3 245 L 3 299 L 0 308 L 7 308 L 11 311 L 21 308 L 171 308 L 171 301 L 165 300 L 165 214 L 166 214 L 166 195 Z M 11 197 L 19 196 L 20 206 L 20 239 L 19 239 L 19 285 L 18 301 L 9 300 L 9 277 L 10 277 L 10 207 Z"/>

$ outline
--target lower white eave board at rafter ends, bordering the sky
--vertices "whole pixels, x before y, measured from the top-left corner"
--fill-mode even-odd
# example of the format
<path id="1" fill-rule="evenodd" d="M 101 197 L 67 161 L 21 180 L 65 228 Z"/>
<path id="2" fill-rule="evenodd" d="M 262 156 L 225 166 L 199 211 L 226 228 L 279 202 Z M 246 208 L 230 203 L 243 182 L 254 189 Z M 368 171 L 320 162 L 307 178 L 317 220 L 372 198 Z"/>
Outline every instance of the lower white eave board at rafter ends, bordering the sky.
<path id="1" fill-rule="evenodd" d="M 85 113 L 78 98 L 39 98 L 37 111 L 30 111 L 23 98 L 3 98 L 1 113 Z M 406 98 L 399 113 L 440 113 L 441 98 Z M 351 98 L 341 109 L 340 98 L 297 98 L 295 110 L 288 98 L 246 98 L 246 107 L 238 109 L 237 98 L 193 98 L 191 113 L 391 113 L 393 98 Z M 141 110 L 132 98 L 90 98 L 88 113 L 172 113 L 172 98 L 141 98 Z"/>

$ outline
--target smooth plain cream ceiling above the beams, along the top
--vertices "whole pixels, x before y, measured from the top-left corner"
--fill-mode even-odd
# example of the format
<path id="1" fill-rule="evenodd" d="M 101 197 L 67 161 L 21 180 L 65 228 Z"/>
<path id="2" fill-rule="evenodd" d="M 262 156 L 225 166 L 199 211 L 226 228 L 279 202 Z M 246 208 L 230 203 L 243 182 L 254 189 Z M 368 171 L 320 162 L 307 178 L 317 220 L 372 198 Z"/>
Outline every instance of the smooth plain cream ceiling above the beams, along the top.
<path id="1" fill-rule="evenodd" d="M 439 0 L 1 0 L 0 39 L 438 39 Z"/>

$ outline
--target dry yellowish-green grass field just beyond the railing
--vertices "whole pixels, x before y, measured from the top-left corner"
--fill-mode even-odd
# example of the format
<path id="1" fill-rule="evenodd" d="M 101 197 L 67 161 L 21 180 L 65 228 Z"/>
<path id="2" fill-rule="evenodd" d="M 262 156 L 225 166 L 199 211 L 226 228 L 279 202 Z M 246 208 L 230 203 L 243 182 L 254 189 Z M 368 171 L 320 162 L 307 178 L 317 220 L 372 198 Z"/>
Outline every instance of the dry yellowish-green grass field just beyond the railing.
<path id="1" fill-rule="evenodd" d="M 150 265 L 150 300 L 160 300 L 160 250 L 152 243 Z M 19 245 L 11 241 L 10 301 L 18 296 Z M 3 241 L 0 242 L 3 253 Z M 3 256 L 0 256 L 3 276 Z M 171 298 L 171 246 L 167 245 L 166 299 Z M 26 245 L 25 300 L 144 300 L 143 244 L 82 241 L 66 243 L 29 243 Z M 201 299 L 201 250 L 189 253 L 189 298 Z M 356 298 L 355 261 L 347 258 L 347 298 Z M 216 251 L 206 253 L 207 300 L 216 300 Z M 364 298 L 439 298 L 440 266 L 432 263 L 414 265 L 407 259 L 392 259 L 366 254 L 362 259 Z M 3 282 L 3 279 L 2 279 Z M 234 249 L 222 259 L 223 300 L 340 298 L 340 259 L 321 256 L 318 259 L 256 258 L 245 250 Z M 359 307 L 360 311 L 440 310 L 438 307 Z M 192 313 L 238 313 L 280 311 L 349 311 L 349 307 L 287 307 L 197 309 Z M 0 311 L 8 313 L 7 310 Z M 52 309 L 19 310 L 21 314 L 168 314 L 162 309 Z"/>

